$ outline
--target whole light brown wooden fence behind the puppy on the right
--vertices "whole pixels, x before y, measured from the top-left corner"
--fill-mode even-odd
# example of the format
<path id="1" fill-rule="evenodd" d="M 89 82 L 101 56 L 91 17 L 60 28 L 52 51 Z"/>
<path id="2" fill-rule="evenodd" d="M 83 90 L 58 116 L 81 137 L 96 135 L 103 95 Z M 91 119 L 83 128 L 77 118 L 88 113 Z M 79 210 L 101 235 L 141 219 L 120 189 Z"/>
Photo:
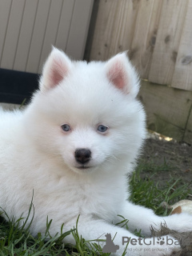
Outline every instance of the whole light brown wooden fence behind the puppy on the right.
<path id="1" fill-rule="evenodd" d="M 95 13 L 86 58 L 129 50 L 148 126 L 192 143 L 192 0 L 96 0 Z"/>

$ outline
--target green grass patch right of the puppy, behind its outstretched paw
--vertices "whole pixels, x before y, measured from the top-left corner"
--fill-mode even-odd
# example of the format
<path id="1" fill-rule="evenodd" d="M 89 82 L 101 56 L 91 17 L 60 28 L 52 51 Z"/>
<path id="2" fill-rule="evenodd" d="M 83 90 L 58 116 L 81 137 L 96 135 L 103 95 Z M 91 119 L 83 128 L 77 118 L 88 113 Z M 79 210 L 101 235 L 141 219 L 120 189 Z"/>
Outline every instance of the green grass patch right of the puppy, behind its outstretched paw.
<path id="1" fill-rule="evenodd" d="M 158 171 L 165 171 L 165 175 L 169 175 L 169 170 L 174 167 L 169 166 L 166 162 L 162 166 L 154 166 L 153 162 L 141 163 L 134 172 L 130 180 L 131 196 L 130 200 L 138 205 L 146 206 L 154 210 L 155 214 L 167 215 L 169 210 L 164 209 L 160 204 L 167 202 L 169 205 L 179 200 L 190 197 L 190 183 L 182 182 L 182 178 L 171 178 L 159 186 L 158 182 L 154 182 L 154 175 L 158 176 Z M 145 178 L 142 174 L 145 173 Z M 191 199 L 191 198 L 190 198 Z"/>

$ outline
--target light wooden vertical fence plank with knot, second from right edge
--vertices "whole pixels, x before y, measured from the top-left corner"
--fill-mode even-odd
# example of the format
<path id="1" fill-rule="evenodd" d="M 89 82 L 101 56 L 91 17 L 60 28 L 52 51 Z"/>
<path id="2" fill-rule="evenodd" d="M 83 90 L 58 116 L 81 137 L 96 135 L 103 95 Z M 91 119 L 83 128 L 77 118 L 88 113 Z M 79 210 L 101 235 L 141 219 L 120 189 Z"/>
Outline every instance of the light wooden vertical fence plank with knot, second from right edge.
<path id="1" fill-rule="evenodd" d="M 170 84 L 172 81 L 187 4 L 186 0 L 162 2 L 162 14 L 150 67 L 150 82 Z"/>

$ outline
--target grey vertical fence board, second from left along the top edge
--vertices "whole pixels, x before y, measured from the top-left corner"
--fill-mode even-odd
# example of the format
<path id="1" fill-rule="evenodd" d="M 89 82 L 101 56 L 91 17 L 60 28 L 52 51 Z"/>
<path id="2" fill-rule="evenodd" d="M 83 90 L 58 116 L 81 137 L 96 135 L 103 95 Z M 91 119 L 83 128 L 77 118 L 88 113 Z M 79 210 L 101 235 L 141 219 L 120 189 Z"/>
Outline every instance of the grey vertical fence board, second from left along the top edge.
<path id="1" fill-rule="evenodd" d="M 6 69 L 13 69 L 25 3 L 25 0 L 17 0 L 12 2 L 10 19 L 7 27 L 6 39 L 1 61 L 1 66 Z"/>

